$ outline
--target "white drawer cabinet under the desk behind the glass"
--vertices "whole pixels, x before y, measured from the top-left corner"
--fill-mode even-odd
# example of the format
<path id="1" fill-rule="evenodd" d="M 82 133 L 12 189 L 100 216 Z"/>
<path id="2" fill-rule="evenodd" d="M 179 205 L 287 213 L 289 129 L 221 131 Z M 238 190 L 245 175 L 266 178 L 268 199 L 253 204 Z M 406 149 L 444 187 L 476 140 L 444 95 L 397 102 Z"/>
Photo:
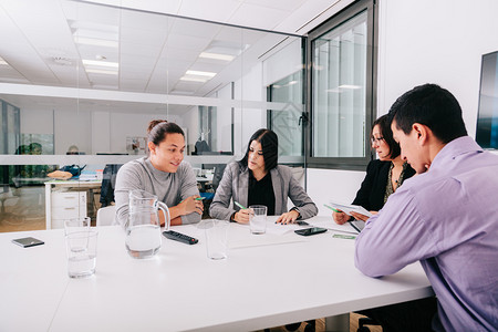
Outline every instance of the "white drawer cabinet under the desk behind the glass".
<path id="1" fill-rule="evenodd" d="M 64 219 L 86 217 L 86 191 L 52 191 L 51 226 L 63 228 Z"/>

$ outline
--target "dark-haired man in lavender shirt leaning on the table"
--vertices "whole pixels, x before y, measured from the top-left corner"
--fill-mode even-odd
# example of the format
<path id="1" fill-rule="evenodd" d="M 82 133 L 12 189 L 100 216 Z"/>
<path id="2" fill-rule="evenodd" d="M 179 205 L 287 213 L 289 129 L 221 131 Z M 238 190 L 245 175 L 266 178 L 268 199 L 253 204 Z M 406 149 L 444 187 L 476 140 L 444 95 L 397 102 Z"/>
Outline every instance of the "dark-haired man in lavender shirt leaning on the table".
<path id="1" fill-rule="evenodd" d="M 467 135 L 457 100 L 438 85 L 406 92 L 388 115 L 417 176 L 367 220 L 355 264 L 377 278 L 419 261 L 437 307 L 424 302 L 434 314 L 419 329 L 411 302 L 369 315 L 384 331 L 498 331 L 498 156 Z"/>

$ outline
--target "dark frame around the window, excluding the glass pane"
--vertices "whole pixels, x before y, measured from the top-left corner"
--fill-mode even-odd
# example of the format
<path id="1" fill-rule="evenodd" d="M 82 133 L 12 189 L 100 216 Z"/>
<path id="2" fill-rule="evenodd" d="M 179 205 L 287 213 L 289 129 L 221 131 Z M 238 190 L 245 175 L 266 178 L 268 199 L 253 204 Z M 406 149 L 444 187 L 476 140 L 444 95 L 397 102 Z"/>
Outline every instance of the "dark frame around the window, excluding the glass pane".
<path id="1" fill-rule="evenodd" d="M 319 37 L 339 27 L 351 18 L 366 10 L 366 93 L 365 93 L 365 156 L 364 157 L 314 157 L 313 156 L 313 49 L 312 44 Z M 377 40 L 378 18 L 376 0 L 360 0 L 346 7 L 318 28 L 308 33 L 307 39 L 307 110 L 309 110 L 309 125 L 307 126 L 305 159 L 309 168 L 364 170 L 366 165 L 375 157 L 370 145 L 370 128 L 376 116 L 376 81 L 377 81 Z"/>

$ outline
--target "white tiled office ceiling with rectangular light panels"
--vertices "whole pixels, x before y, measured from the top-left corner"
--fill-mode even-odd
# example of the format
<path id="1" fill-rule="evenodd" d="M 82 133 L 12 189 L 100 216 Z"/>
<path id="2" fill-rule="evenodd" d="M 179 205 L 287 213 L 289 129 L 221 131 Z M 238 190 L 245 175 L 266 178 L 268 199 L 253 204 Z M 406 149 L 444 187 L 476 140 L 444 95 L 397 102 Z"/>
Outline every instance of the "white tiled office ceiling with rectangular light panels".
<path id="1" fill-rule="evenodd" d="M 4 61 L 2 64 L 0 59 L 0 83 L 205 96 L 239 79 L 241 68 L 249 69 L 287 39 L 284 34 L 232 25 L 302 35 L 351 2 L 0 0 L 0 58 Z M 115 46 L 77 43 L 77 35 L 92 37 L 93 41 L 115 40 Z M 227 62 L 199 58 L 201 52 L 232 52 L 238 56 Z M 98 65 L 85 66 L 83 60 Z M 112 63 L 118 68 L 102 66 Z M 205 82 L 180 80 L 187 70 L 211 72 L 215 76 Z M 37 102 L 35 97 L 3 97 Z"/>

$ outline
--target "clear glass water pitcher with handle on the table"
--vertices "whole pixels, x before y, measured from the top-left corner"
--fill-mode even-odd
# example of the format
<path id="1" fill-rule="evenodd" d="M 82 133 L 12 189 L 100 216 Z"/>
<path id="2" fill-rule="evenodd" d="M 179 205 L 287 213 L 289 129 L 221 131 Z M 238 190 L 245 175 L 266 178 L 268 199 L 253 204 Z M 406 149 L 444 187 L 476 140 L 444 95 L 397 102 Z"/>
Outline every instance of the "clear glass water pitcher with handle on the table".
<path id="1" fill-rule="evenodd" d="M 128 226 L 126 228 L 126 250 L 133 258 L 155 256 L 162 243 L 160 209 L 165 217 L 165 230 L 169 229 L 169 209 L 157 200 L 157 196 L 144 190 L 129 191 Z"/>

